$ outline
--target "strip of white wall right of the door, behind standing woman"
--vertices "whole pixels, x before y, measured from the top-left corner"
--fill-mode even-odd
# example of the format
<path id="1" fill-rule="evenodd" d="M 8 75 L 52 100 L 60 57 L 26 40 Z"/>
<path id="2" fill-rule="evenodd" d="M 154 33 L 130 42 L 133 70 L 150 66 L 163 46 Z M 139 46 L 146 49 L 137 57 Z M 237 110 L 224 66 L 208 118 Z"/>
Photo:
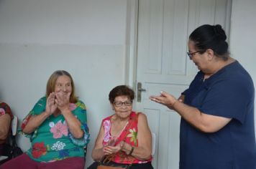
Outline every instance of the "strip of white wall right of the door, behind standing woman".
<path id="1" fill-rule="evenodd" d="M 232 57 L 237 59 L 250 73 L 256 89 L 255 7 L 255 0 L 233 0 L 230 26 L 230 50 Z"/>

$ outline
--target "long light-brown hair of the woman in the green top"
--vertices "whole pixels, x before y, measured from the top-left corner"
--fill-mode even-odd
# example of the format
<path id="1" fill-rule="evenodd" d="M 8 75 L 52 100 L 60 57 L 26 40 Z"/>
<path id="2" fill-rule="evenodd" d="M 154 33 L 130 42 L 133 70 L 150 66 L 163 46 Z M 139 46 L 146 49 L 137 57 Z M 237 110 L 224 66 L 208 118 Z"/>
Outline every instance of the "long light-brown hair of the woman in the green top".
<path id="1" fill-rule="evenodd" d="M 70 78 L 71 87 L 72 87 L 72 92 L 70 94 L 70 102 L 76 103 L 78 101 L 78 97 L 75 95 L 75 85 L 74 85 L 71 75 L 68 72 L 66 72 L 65 70 L 56 70 L 55 72 L 52 73 L 52 75 L 50 75 L 48 82 L 47 82 L 47 86 L 46 86 L 46 97 L 48 97 L 51 92 L 55 91 L 56 81 L 57 81 L 58 77 L 63 76 L 63 75 L 68 76 Z"/>

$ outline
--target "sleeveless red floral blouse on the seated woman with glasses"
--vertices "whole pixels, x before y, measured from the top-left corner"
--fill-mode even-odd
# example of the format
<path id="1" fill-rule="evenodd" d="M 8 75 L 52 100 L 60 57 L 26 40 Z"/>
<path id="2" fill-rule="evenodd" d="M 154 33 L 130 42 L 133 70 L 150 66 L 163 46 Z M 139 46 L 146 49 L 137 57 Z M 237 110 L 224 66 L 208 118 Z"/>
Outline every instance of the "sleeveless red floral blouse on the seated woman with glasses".
<path id="1" fill-rule="evenodd" d="M 124 130 L 122 130 L 119 137 L 116 139 L 115 145 L 118 145 L 122 140 L 124 140 L 129 145 L 132 145 L 134 147 L 138 147 L 138 139 L 137 139 L 137 132 L 138 132 L 138 116 L 140 112 L 132 112 L 129 118 L 129 121 L 127 122 L 127 125 L 124 127 Z M 111 140 L 111 117 L 113 115 L 106 117 L 104 120 L 102 120 L 101 125 L 104 128 L 104 140 L 102 140 L 102 144 L 108 145 L 109 140 Z M 116 153 L 111 159 L 115 163 L 122 163 L 122 164 L 132 164 L 132 163 L 147 163 L 152 161 L 152 157 L 150 160 L 139 160 L 137 158 L 134 158 L 132 155 L 127 155 L 123 151 L 119 151 Z"/>

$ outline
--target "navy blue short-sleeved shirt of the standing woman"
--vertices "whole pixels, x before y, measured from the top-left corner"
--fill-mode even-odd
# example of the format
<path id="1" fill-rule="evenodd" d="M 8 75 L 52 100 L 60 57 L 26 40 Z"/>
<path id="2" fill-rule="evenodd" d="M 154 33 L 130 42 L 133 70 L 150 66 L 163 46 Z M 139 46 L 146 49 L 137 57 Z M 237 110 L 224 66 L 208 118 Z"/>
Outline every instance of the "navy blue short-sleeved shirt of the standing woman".
<path id="1" fill-rule="evenodd" d="M 180 169 L 255 169 L 255 90 L 250 74 L 233 62 L 209 79 L 198 72 L 185 103 L 208 115 L 232 120 L 221 130 L 201 132 L 181 118 Z"/>

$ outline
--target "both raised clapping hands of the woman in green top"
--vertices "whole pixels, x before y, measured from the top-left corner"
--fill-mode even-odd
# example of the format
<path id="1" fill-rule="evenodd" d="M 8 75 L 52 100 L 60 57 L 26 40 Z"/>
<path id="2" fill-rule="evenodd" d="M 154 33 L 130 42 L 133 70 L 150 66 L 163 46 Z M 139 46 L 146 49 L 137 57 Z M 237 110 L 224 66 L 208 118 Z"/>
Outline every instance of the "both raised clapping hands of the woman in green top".
<path id="1" fill-rule="evenodd" d="M 46 100 L 45 112 L 52 115 L 57 108 L 60 112 L 63 112 L 69 108 L 69 100 L 70 92 L 51 92 Z"/>

